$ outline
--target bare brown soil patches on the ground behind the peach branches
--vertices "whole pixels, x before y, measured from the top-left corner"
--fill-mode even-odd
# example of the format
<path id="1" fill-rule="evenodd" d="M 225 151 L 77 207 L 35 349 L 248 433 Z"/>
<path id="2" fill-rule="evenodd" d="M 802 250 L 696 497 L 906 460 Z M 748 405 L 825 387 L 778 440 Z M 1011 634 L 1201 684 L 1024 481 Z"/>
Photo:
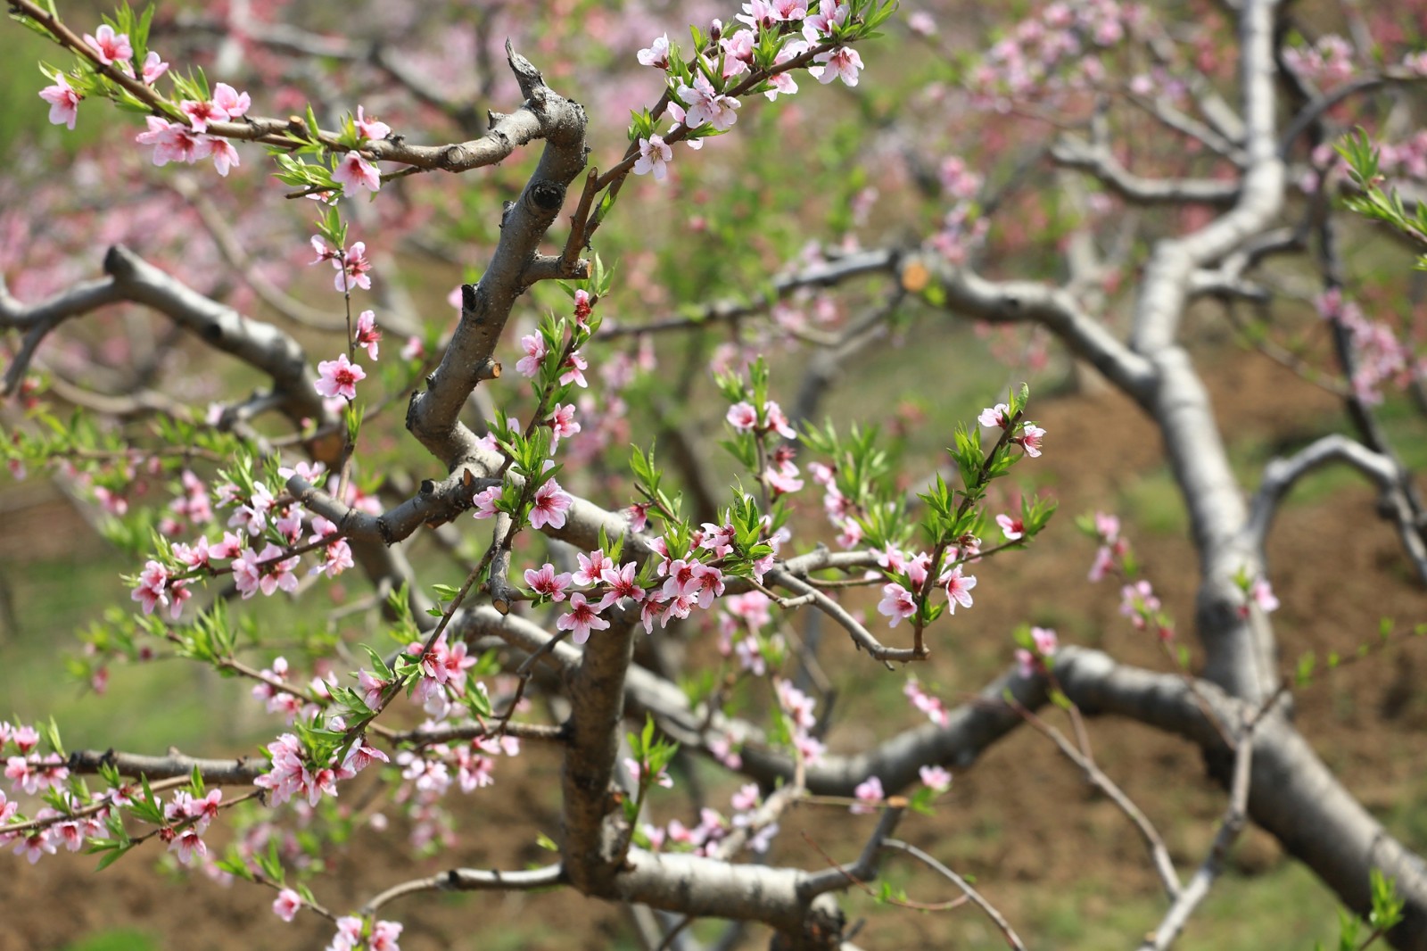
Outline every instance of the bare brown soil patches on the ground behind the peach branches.
<path id="1" fill-rule="evenodd" d="M 1224 431 L 1236 443 L 1296 444 L 1334 420 L 1330 396 L 1279 367 L 1250 357 L 1226 360 L 1223 354 L 1212 363 L 1217 364 L 1210 380 L 1214 403 Z M 987 671 L 1005 664 L 1009 633 L 1026 621 L 1052 624 L 1063 641 L 1102 647 L 1127 663 L 1164 665 L 1156 647 L 1119 615 L 1119 597 L 1110 583 L 1085 581 L 1092 547 L 1072 525 L 1076 514 L 1104 507 L 1132 478 L 1162 466 L 1157 436 L 1134 407 L 1113 394 L 1043 400 L 1037 414 L 1049 431 L 1043 464 L 1055 471 L 1053 481 L 1047 481 L 1062 511 L 1035 551 L 987 565 L 975 611 L 958 614 L 945 628 L 946 643 L 936 647 L 930 670 L 919 671 L 923 681 L 939 683 L 942 695 L 952 701 L 976 690 Z M 1147 535 L 1136 525 L 1127 525 L 1127 531 L 1166 607 L 1192 640 L 1197 570 L 1189 540 Z M 1364 487 L 1351 485 L 1321 503 L 1287 505 L 1274 527 L 1269 555 L 1284 604 L 1274 618 L 1284 670 L 1291 670 L 1309 650 L 1319 657 L 1333 650 L 1351 653 L 1373 640 L 1378 617 L 1410 625 L 1427 614 L 1427 598 L 1410 580 L 1396 535 L 1377 518 L 1373 494 Z M 829 643 L 825 665 L 842 685 L 876 674 L 841 641 Z M 1423 780 L 1423 670 L 1427 638 L 1320 675 L 1296 695 L 1306 735 L 1380 814 Z M 858 720 L 852 701 L 848 713 L 848 725 L 832 737 L 835 748 L 856 748 L 910 723 L 898 714 L 873 733 L 852 723 Z M 1183 741 L 1126 723 L 1096 721 L 1092 740 L 1100 765 L 1164 830 L 1176 860 L 1197 862 L 1223 808 L 1223 797 L 1204 778 L 1197 754 Z M 394 881 L 451 865 L 518 868 L 548 861 L 549 854 L 534 847 L 534 837 L 537 830 L 554 832 L 558 825 L 558 763 L 549 754 L 522 761 L 519 773 L 508 768 L 494 790 L 465 800 L 461 845 L 454 852 L 414 861 L 402 851 L 398 831 L 385 837 L 362 832 L 348 852 L 338 855 L 332 874 L 317 881 L 318 898 L 342 908 Z M 534 821 L 529 804 L 538 810 Z M 859 845 L 859 827 L 841 814 L 799 811 L 785 825 L 775 854 L 779 862 L 823 862 L 801 830 L 836 857 L 850 857 Z M 1153 894 L 1156 888 L 1130 825 L 1107 801 L 1087 791 L 1076 771 L 1032 731 L 1019 731 L 975 767 L 958 771 L 938 815 L 908 821 L 902 834 L 959 871 L 975 874 L 1012 920 L 1026 910 L 1025 885 L 1069 888 L 1090 875 L 1103 890 L 1086 902 L 1087 915 L 1103 912 L 1119 895 Z M 1427 851 L 1427 841 L 1407 844 Z M 1237 851 L 1246 872 L 1277 861 L 1277 847 L 1259 832 L 1251 832 Z M 94 930 L 124 925 L 161 935 L 166 948 L 320 948 L 331 934 L 308 912 L 291 925 L 283 924 L 268 910 L 273 894 L 241 882 L 223 888 L 200 878 L 166 880 L 143 855 L 100 875 L 93 867 L 88 857 L 46 858 L 34 868 L 13 860 L 0 888 L 0 951 L 51 948 Z M 925 892 L 936 891 L 935 882 L 920 880 L 915 897 L 930 901 L 936 895 Z M 1324 894 L 1324 902 L 1330 901 Z M 394 905 L 391 915 L 407 925 L 407 951 L 634 947 L 618 908 L 568 890 L 410 898 Z M 942 934 L 938 921 L 878 911 L 865 944 L 935 944 Z M 512 941 L 514 935 L 518 940 Z M 765 942 L 765 935 L 755 934 L 745 947 Z"/>

